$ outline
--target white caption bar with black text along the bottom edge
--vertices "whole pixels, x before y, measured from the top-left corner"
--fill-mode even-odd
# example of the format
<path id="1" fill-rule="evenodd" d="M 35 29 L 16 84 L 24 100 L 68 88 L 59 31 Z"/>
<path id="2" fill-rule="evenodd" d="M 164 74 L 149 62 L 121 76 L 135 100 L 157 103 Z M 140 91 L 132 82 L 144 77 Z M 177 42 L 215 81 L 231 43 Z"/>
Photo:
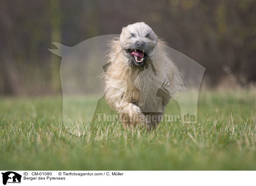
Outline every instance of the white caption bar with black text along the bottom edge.
<path id="1" fill-rule="evenodd" d="M 1 171 L 6 186 L 247 185 L 255 171 Z M 2 184 L 0 183 L 0 185 Z M 18 184 L 15 184 L 18 183 Z"/>

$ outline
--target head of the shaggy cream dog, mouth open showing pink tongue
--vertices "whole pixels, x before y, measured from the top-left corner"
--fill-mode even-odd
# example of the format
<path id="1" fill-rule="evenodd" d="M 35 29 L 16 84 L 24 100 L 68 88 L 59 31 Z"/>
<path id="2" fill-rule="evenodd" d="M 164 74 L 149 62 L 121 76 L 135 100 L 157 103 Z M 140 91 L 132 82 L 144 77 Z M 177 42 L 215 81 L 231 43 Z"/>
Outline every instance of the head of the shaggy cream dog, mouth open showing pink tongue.
<path id="1" fill-rule="evenodd" d="M 145 23 L 134 23 L 124 27 L 120 35 L 122 51 L 132 67 L 143 66 L 157 44 L 157 35 Z"/>

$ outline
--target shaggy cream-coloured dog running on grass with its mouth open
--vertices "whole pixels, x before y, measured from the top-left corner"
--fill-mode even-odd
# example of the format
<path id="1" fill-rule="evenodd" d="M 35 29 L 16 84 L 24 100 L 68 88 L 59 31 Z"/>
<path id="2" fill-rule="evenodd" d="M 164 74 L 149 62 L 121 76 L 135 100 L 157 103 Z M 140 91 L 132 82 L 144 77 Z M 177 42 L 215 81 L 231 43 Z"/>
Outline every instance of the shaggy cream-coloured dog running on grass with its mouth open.
<path id="1" fill-rule="evenodd" d="M 183 89 L 163 41 L 143 22 L 128 25 L 122 28 L 120 38 L 112 41 L 107 62 L 105 99 L 119 113 L 123 127 L 140 124 L 155 128 L 171 96 Z M 126 92 L 121 91 L 124 81 L 120 80 L 126 81 Z M 151 120 L 153 115 L 160 119 Z"/>

